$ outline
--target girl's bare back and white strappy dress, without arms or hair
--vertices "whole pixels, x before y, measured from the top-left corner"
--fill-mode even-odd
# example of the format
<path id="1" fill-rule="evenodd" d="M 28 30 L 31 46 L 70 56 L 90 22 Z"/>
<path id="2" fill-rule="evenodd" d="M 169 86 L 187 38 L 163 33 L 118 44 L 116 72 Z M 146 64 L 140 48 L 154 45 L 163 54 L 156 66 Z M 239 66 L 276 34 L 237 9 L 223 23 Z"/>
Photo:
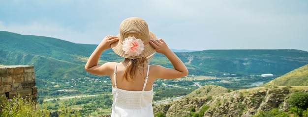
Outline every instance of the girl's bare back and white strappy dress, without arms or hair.
<path id="1" fill-rule="evenodd" d="M 125 68 L 121 63 L 115 65 L 112 78 L 114 85 L 112 88 L 114 101 L 112 111 L 114 113 L 112 113 L 111 117 L 154 117 L 152 107 L 153 88 L 150 91 L 145 91 L 150 66 L 143 68 L 142 71 L 147 70 L 146 73 L 143 72 L 144 75 L 136 73 L 134 81 L 130 82 L 123 78 Z M 119 73 L 122 76 L 120 78 L 117 77 Z M 142 90 L 138 90 L 140 86 Z"/>

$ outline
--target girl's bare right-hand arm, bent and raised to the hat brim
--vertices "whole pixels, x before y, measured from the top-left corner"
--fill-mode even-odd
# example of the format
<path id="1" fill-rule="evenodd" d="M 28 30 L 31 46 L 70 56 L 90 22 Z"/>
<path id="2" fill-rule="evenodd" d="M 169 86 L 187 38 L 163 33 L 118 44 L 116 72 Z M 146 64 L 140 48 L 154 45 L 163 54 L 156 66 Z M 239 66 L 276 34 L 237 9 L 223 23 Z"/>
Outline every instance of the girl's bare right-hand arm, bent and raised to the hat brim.
<path id="1" fill-rule="evenodd" d="M 162 66 L 154 65 L 153 67 L 155 68 L 154 70 L 157 78 L 175 79 L 184 77 L 188 74 L 185 64 L 175 53 L 173 53 L 165 41 L 162 39 L 151 40 L 150 44 L 156 48 L 158 53 L 164 54 L 174 67 L 174 69 L 168 69 Z"/>

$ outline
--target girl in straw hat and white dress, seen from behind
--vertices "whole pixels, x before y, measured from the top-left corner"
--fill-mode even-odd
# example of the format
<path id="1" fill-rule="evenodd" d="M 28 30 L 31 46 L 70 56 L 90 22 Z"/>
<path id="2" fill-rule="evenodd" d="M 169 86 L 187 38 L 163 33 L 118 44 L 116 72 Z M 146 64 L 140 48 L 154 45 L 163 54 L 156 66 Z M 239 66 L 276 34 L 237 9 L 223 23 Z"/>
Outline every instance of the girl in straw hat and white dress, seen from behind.
<path id="1" fill-rule="evenodd" d="M 125 19 L 117 36 L 108 35 L 93 51 L 85 70 L 95 75 L 109 75 L 112 81 L 111 117 L 154 117 L 153 83 L 155 79 L 184 77 L 188 70 L 162 39 L 156 39 L 141 18 Z M 101 53 L 112 48 L 125 58 L 122 62 L 97 65 Z M 164 54 L 174 69 L 149 65 L 155 52 Z"/>

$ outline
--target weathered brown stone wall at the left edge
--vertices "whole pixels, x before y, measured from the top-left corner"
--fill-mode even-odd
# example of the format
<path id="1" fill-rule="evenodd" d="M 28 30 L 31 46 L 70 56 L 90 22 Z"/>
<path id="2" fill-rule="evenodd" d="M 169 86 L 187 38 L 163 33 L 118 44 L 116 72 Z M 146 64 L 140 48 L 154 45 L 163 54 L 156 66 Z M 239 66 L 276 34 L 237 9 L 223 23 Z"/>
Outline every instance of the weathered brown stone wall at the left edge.
<path id="1" fill-rule="evenodd" d="M 37 99 L 34 66 L 0 66 L 0 95 Z"/>

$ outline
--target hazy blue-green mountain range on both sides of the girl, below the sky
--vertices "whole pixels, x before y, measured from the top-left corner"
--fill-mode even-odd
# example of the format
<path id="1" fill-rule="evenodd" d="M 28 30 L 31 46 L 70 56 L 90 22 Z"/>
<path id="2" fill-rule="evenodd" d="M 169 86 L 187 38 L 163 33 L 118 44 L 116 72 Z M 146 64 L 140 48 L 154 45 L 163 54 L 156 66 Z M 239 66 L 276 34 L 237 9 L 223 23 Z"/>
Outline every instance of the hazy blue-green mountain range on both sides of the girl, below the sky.
<path id="1" fill-rule="evenodd" d="M 75 44 L 56 38 L 20 35 L 0 31 L 0 64 L 33 65 L 41 79 L 98 77 L 84 70 L 88 57 L 97 45 Z M 308 64 L 308 52 L 294 49 L 272 50 L 203 50 L 175 52 L 185 62 L 189 74 L 237 76 L 273 73 L 283 75 Z M 112 49 L 103 52 L 100 63 L 122 61 Z M 172 68 L 162 54 L 155 54 L 151 64 Z"/>

